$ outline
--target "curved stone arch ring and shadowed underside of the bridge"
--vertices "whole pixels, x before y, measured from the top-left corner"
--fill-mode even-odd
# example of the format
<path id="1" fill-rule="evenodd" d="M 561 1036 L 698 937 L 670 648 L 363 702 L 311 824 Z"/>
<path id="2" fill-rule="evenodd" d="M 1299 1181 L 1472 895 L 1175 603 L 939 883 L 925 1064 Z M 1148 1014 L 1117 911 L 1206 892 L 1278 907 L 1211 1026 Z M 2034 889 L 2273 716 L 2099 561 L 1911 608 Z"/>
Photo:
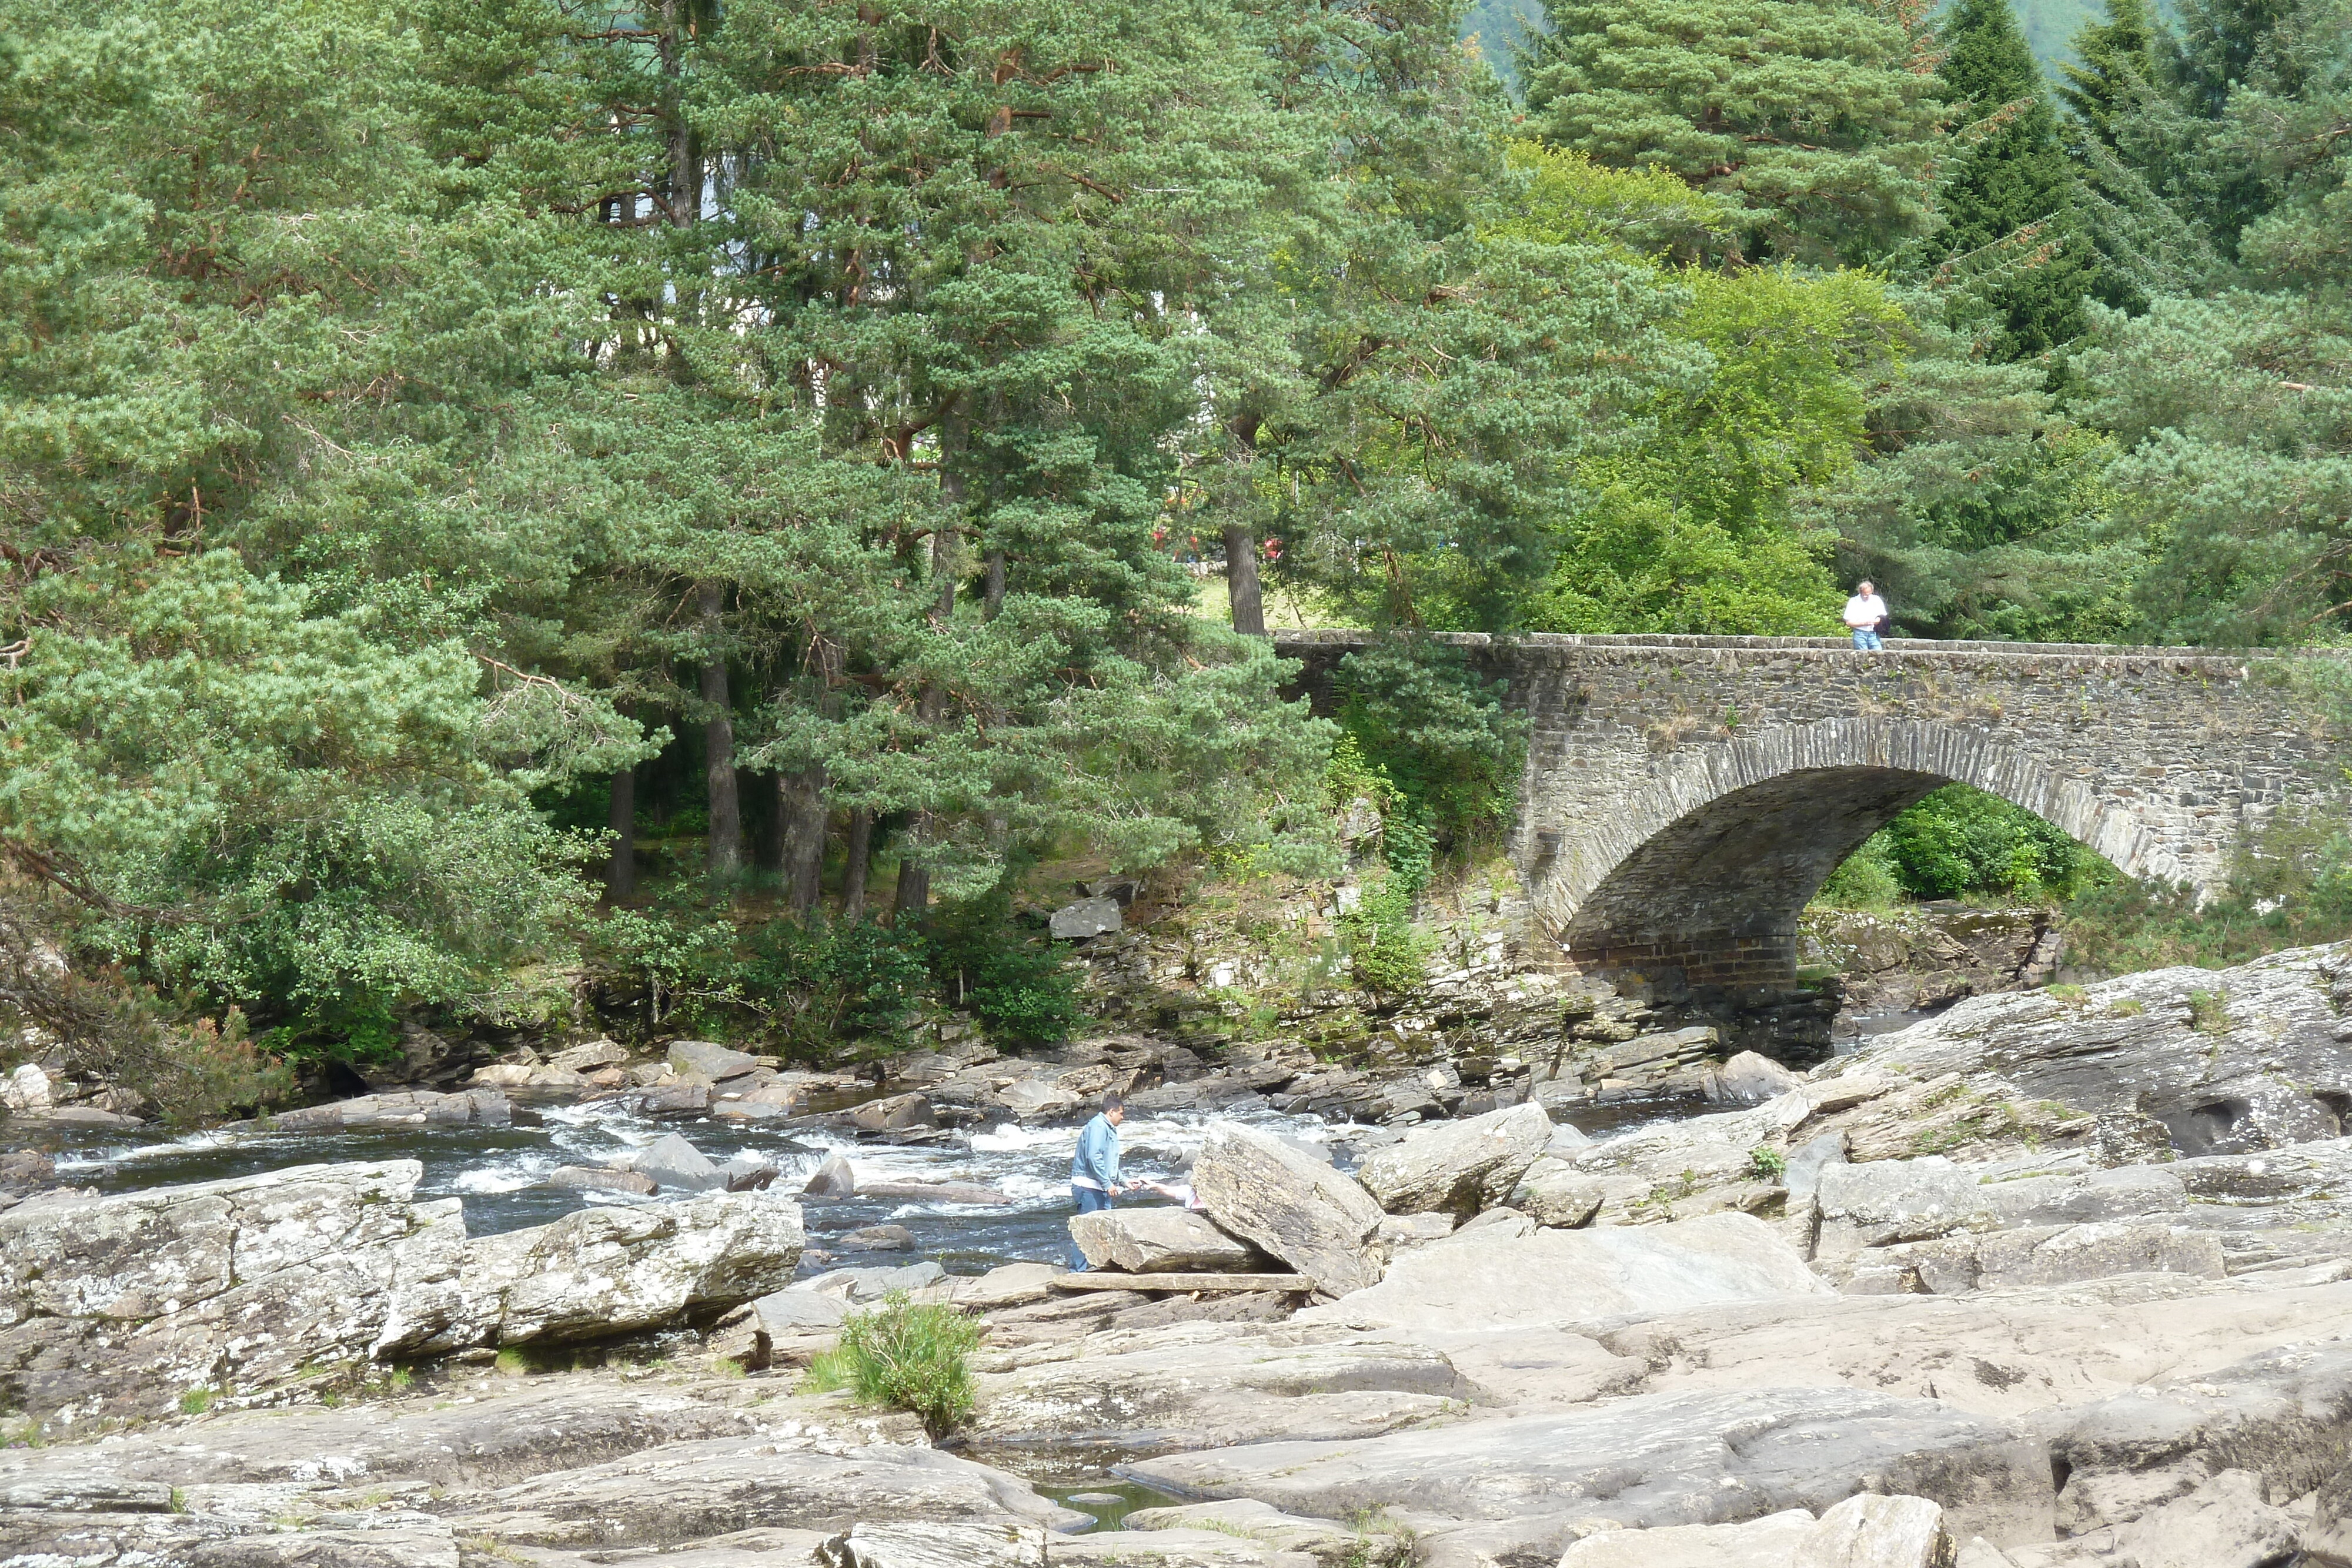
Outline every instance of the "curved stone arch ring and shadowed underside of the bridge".
<path id="1" fill-rule="evenodd" d="M 2119 766 L 2110 773 L 2126 771 Z M 1677 750 L 1602 820 L 1529 835 L 1536 910 L 1588 971 L 1780 980 L 1797 912 L 1872 832 L 1945 783 L 2025 806 L 2136 877 L 2194 879 L 2103 778 L 2060 773 L 1987 726 L 1842 717 Z"/>

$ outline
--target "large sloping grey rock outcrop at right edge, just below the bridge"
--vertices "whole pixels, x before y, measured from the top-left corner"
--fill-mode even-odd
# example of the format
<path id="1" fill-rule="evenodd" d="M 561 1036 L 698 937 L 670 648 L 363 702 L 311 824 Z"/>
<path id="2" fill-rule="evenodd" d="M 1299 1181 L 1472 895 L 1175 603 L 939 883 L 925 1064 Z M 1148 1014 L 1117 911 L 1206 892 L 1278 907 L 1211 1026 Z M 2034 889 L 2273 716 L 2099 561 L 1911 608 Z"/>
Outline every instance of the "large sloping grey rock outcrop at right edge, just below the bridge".
<path id="1" fill-rule="evenodd" d="M 2237 969 L 1973 997 L 1837 1070 L 1999 1074 L 2030 1100 L 2152 1114 L 2183 1154 L 2256 1152 L 2343 1133 L 2347 994 L 2352 945 L 2296 947 Z"/>

